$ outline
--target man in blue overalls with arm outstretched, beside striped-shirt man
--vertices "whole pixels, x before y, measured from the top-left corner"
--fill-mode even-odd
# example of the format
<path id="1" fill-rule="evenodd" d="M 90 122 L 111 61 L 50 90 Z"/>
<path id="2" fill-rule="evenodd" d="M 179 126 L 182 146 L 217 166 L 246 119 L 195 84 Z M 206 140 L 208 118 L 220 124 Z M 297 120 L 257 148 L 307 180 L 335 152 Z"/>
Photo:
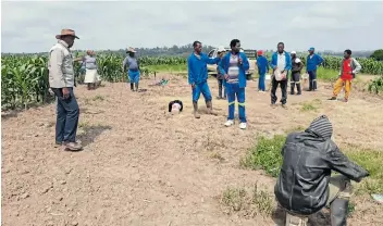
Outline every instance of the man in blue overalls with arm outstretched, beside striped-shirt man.
<path id="1" fill-rule="evenodd" d="M 202 43 L 200 41 L 195 41 L 193 48 L 194 52 L 187 59 L 188 83 L 192 86 L 194 116 L 200 118 L 198 114 L 198 100 L 201 92 L 208 108 L 208 114 L 213 114 L 212 97 L 208 85 L 207 64 L 217 64 L 221 59 L 219 56 L 209 59 L 207 54 L 202 53 Z"/>

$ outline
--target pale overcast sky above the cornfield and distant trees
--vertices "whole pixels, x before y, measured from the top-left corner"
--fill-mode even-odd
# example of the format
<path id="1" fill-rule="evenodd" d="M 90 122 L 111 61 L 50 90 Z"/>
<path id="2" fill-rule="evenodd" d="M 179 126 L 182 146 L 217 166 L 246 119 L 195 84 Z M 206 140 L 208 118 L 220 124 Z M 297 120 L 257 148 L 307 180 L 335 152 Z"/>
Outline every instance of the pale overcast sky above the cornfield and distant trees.
<path id="1" fill-rule="evenodd" d="M 383 2 L 2 1 L 1 51 L 45 52 L 61 28 L 74 49 L 186 45 L 343 51 L 383 48 Z"/>

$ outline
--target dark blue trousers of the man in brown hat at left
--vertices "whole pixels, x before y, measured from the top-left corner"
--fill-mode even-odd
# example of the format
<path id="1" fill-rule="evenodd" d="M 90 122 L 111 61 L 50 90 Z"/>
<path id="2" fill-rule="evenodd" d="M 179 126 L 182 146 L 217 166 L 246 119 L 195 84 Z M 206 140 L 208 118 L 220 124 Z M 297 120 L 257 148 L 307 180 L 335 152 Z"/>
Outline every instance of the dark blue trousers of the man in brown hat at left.
<path id="1" fill-rule="evenodd" d="M 63 99 L 62 89 L 52 88 L 58 101 L 55 122 L 55 142 L 75 142 L 79 110 L 73 88 L 70 89 L 70 98 Z"/>

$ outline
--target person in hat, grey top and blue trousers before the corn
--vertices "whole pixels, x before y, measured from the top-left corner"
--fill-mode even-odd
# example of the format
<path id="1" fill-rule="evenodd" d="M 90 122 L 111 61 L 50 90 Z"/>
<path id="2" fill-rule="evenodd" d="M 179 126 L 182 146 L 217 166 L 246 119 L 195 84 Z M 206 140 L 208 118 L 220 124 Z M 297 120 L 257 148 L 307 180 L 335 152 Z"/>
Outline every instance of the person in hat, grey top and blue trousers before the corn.
<path id="1" fill-rule="evenodd" d="M 135 56 L 136 50 L 132 47 L 127 48 L 126 53 L 128 54 L 123 63 L 122 70 L 123 72 L 126 71 L 127 67 L 127 75 L 131 81 L 131 90 L 138 91 L 138 83 L 139 83 L 139 61 Z"/>

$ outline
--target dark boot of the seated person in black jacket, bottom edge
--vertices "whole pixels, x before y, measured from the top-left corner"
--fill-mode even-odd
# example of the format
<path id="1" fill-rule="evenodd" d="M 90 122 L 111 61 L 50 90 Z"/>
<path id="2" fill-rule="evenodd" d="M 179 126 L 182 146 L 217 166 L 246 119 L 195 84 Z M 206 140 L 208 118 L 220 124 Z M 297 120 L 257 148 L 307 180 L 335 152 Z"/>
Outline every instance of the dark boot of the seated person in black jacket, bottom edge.
<path id="1" fill-rule="evenodd" d="M 348 199 L 335 199 L 331 203 L 331 226 L 346 226 Z"/>

